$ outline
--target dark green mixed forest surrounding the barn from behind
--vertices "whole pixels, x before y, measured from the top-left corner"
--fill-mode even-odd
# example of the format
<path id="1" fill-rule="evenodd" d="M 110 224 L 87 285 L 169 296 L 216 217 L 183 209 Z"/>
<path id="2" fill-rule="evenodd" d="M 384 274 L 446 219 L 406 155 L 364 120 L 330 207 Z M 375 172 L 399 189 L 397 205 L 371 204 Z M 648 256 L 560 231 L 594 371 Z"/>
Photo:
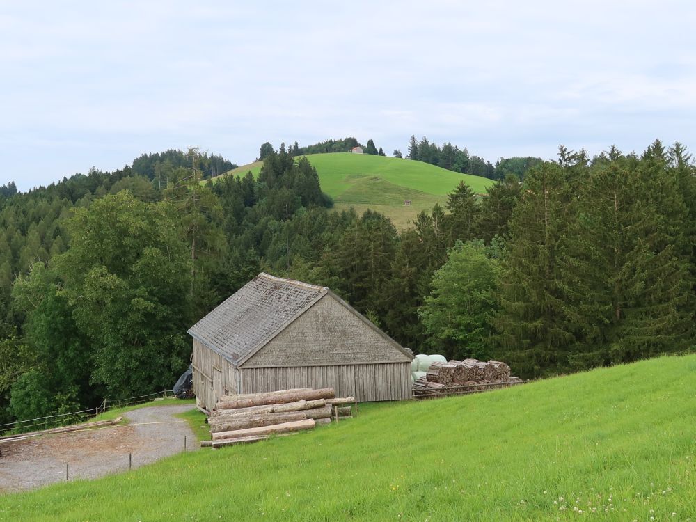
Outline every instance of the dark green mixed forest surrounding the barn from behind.
<path id="1" fill-rule="evenodd" d="M 229 161 L 166 155 L 1 187 L 0 422 L 171 388 L 189 326 L 260 271 L 331 287 L 416 353 L 522 377 L 693 350 L 696 171 L 679 143 L 561 147 L 402 231 L 332 210 L 285 148 L 258 179 L 216 183 L 201 180 Z"/>

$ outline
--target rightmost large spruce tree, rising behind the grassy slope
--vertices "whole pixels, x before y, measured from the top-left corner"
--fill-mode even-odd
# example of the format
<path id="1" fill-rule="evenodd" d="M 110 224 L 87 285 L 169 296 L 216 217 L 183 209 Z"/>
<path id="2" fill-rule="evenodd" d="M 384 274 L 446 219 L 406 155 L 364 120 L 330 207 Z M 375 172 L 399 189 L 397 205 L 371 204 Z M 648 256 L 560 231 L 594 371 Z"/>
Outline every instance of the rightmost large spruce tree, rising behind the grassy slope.
<path id="1" fill-rule="evenodd" d="M 628 230 L 637 237 L 624 269 L 630 276 L 630 308 L 610 348 L 615 362 L 686 349 L 693 320 L 684 235 L 688 211 L 659 141 L 644 152 L 632 174 L 639 213 Z"/>

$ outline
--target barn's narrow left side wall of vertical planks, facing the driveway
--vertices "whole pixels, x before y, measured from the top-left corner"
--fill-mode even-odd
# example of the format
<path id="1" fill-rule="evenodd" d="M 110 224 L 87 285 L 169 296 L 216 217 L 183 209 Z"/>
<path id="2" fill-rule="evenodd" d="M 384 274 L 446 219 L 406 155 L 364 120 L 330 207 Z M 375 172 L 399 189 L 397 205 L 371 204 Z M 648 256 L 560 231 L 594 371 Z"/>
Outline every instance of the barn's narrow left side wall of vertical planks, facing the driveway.
<path id="1" fill-rule="evenodd" d="M 193 340 L 193 393 L 196 404 L 214 408 L 221 395 L 238 393 L 238 370 L 202 342 Z"/>

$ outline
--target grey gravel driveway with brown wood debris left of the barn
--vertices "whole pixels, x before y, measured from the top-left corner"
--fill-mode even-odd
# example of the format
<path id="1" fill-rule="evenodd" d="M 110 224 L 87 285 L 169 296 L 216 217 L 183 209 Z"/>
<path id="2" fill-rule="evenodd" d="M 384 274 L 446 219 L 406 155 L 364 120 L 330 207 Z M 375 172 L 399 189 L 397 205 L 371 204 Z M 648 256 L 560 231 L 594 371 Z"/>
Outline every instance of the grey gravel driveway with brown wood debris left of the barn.
<path id="1" fill-rule="evenodd" d="M 168 457 L 199 447 L 189 424 L 175 413 L 196 406 L 148 406 L 124 413 L 127 425 L 91 429 L 84 432 L 38 436 L 0 446 L 0 492 L 19 491 L 65 480 L 65 464 L 70 480 L 95 478 L 128 470 L 132 466 Z"/>

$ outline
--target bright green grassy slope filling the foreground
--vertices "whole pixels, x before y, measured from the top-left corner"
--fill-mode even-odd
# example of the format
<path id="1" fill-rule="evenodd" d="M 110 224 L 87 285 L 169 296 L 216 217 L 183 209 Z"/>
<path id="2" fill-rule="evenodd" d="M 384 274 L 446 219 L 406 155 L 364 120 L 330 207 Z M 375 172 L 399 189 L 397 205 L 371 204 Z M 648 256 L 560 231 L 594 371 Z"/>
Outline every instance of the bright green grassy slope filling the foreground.
<path id="1" fill-rule="evenodd" d="M 0 520 L 696 521 L 695 393 L 683 356 L 370 404 L 314 432 L 0 497 Z"/>

